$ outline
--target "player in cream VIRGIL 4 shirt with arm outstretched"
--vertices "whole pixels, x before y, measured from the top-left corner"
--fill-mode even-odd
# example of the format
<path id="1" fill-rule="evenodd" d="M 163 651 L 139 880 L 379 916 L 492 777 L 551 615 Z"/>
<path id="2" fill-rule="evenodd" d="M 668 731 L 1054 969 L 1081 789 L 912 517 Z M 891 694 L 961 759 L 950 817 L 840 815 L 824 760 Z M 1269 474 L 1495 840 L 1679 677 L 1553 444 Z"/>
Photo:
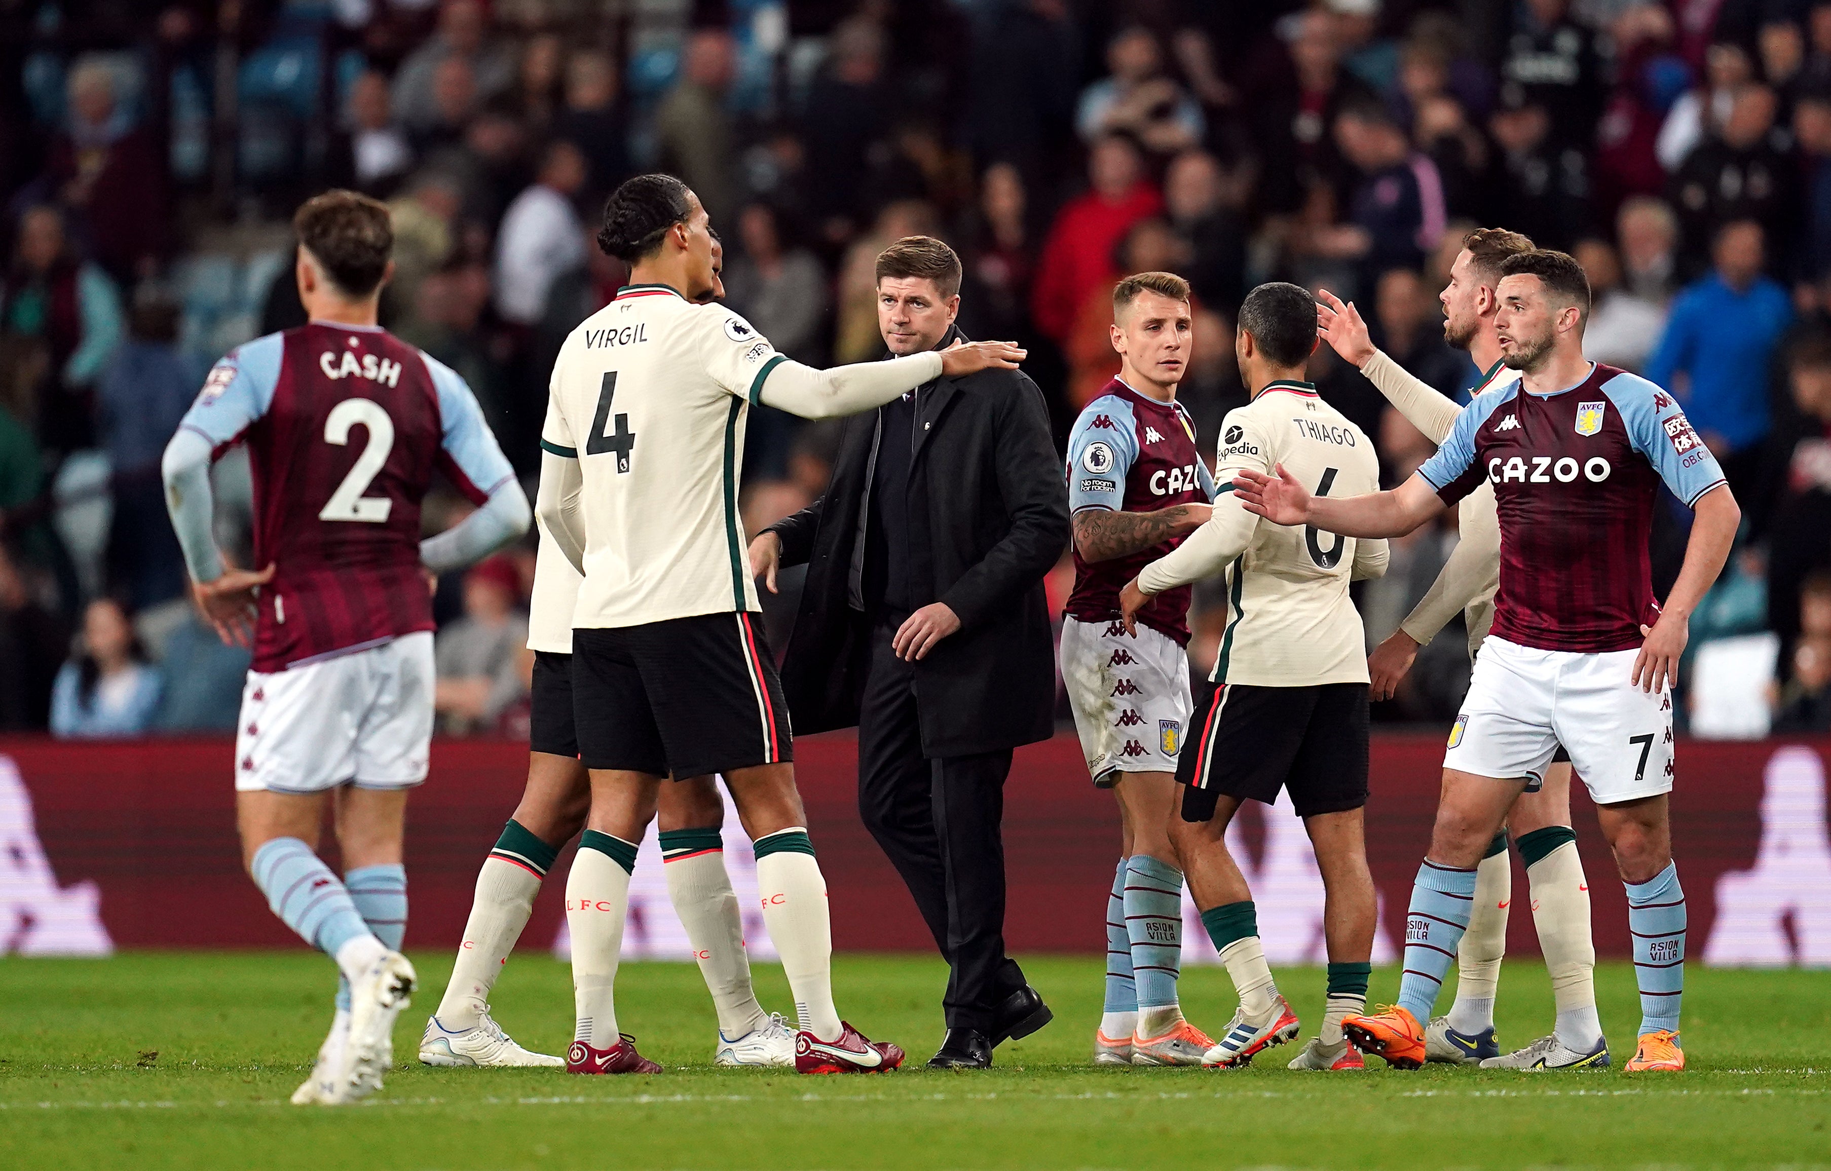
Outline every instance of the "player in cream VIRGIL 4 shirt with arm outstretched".
<path id="1" fill-rule="evenodd" d="M 619 187 L 599 243 L 632 263 L 632 284 L 560 348 L 536 501 L 584 578 L 571 684 L 591 811 L 566 886 L 579 1014 L 568 1067 L 623 1045 L 610 986 L 659 787 L 721 774 L 756 843 L 764 924 L 795 994 L 796 1069 L 895 1069 L 903 1050 L 868 1041 L 833 1006 L 826 880 L 738 516 L 745 423 L 756 403 L 804 417 L 870 410 L 1024 355 L 978 342 L 826 371 L 791 362 L 736 313 L 694 304 L 714 282 L 710 225 L 668 176 Z"/>

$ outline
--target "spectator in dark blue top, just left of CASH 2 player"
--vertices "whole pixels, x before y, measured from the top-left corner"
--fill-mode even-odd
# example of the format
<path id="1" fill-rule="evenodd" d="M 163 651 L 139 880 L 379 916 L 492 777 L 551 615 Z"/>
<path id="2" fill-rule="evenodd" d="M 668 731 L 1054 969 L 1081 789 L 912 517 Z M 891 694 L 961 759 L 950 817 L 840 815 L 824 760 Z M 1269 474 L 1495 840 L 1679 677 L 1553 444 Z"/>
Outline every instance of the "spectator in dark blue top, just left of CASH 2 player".
<path id="1" fill-rule="evenodd" d="M 126 604 L 146 609 L 185 593 L 185 558 L 165 512 L 159 457 L 205 366 L 178 346 L 178 302 L 143 287 L 128 313 L 128 342 L 97 388 L 101 439 L 114 470 L 110 578 Z"/>

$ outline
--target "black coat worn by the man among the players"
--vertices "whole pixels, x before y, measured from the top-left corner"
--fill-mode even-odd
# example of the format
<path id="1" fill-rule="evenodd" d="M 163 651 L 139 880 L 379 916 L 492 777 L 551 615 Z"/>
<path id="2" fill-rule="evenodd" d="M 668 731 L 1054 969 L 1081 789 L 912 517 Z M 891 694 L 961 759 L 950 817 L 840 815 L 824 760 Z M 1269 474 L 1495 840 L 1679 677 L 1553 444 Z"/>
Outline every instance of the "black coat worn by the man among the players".
<path id="1" fill-rule="evenodd" d="M 917 404 L 908 507 L 926 509 L 930 542 L 912 551 L 910 600 L 945 602 L 959 617 L 916 664 L 923 756 L 1047 739 L 1055 642 L 1042 580 L 1067 547 L 1069 521 L 1042 392 L 1022 371 L 981 370 L 923 386 Z M 826 494 L 767 529 L 782 538 L 784 565 L 807 564 L 782 664 L 796 732 L 859 723 L 870 626 L 853 606 L 853 551 L 866 536 L 881 432 L 881 412 L 846 419 Z"/>

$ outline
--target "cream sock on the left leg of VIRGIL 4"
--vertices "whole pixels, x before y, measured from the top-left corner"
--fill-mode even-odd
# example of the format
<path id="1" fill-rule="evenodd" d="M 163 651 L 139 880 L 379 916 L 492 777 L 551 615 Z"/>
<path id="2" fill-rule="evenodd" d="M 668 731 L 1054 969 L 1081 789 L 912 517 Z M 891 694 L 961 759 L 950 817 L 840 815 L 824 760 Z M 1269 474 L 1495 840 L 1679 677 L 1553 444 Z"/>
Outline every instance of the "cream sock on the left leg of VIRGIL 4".
<path id="1" fill-rule="evenodd" d="M 566 875 L 566 926 L 573 944 L 575 1041 L 591 1048 L 617 1043 L 617 959 L 623 920 L 630 911 L 635 843 L 601 834 L 579 836 L 579 854 Z"/>

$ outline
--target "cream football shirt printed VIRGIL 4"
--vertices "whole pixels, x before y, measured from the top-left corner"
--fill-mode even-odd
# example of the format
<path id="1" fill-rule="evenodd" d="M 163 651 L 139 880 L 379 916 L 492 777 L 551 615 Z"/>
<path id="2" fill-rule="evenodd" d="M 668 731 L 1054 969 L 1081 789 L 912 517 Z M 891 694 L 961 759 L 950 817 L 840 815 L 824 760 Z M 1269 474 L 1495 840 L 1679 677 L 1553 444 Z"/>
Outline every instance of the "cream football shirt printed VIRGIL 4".
<path id="1" fill-rule="evenodd" d="M 540 446 L 582 478 L 573 628 L 760 609 L 738 470 L 751 404 L 784 360 L 731 309 L 666 285 L 628 285 L 568 335 Z"/>

